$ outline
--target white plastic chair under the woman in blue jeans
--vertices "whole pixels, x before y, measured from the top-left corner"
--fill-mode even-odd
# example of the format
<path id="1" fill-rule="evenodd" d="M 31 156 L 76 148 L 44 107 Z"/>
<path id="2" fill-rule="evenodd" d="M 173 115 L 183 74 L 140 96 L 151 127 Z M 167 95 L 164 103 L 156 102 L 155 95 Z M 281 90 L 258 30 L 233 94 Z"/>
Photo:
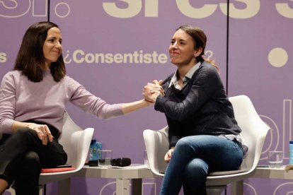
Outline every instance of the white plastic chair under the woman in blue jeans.
<path id="1" fill-rule="evenodd" d="M 241 135 L 248 146 L 248 153 L 239 170 L 211 172 L 206 182 L 207 194 L 210 195 L 222 194 L 228 184 L 241 181 L 253 174 L 260 159 L 265 136 L 270 130 L 270 127 L 260 119 L 246 95 L 231 97 L 229 100 L 233 105 L 236 121 L 242 129 Z M 154 174 L 163 176 L 167 167 L 163 157 L 168 151 L 168 126 L 159 131 L 146 129 L 143 135 L 150 169 Z"/>

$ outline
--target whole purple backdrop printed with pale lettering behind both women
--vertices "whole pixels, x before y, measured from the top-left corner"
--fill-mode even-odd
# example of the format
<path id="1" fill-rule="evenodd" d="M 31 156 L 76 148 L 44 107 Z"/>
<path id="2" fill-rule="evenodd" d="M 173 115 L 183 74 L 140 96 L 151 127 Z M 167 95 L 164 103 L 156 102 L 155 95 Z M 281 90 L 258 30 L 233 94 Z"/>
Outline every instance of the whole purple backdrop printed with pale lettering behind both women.
<path id="1" fill-rule="evenodd" d="M 286 0 L 229 2 L 227 30 L 227 1 L 224 0 L 51 0 L 50 4 L 46 0 L 0 1 L 0 77 L 13 68 L 28 26 L 50 20 L 62 30 L 69 76 L 109 103 L 139 100 L 147 82 L 166 78 L 176 70 L 168 62 L 168 46 L 176 28 L 197 25 L 207 34 L 207 57 L 219 64 L 229 96 L 248 95 L 272 127 L 260 164 L 267 163 L 268 150 L 283 150 L 287 162 L 288 143 L 292 139 L 289 89 L 293 80 L 289 75 L 293 61 L 290 42 L 293 3 Z M 124 55 L 127 55 L 125 59 Z M 103 143 L 103 148 L 112 149 L 114 158 L 127 156 L 133 163 L 143 163 L 142 131 L 166 125 L 163 114 L 155 112 L 152 106 L 110 120 L 96 119 L 71 104 L 67 111 L 80 126 L 95 128 L 94 138 Z M 268 181 L 270 187 L 266 185 L 262 189 Z M 113 194 L 113 182 L 113 179 L 74 178 L 71 190 L 72 194 Z M 285 182 L 247 179 L 245 194 L 271 194 Z M 160 184 L 161 179 L 144 179 L 144 194 L 159 194 Z M 50 184 L 47 194 L 56 194 L 54 185 Z M 289 191 L 292 184 L 282 188 Z"/>

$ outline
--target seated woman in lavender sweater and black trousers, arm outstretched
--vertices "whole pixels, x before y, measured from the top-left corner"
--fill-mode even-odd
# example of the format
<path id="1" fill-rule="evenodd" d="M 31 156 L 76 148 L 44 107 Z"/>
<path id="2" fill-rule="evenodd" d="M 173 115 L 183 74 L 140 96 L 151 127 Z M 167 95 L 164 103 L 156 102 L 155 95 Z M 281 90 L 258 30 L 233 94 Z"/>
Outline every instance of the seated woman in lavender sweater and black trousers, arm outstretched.
<path id="1" fill-rule="evenodd" d="M 58 143 L 67 102 L 98 118 L 149 105 L 108 105 L 66 75 L 58 25 L 35 23 L 23 37 L 13 71 L 0 86 L 0 194 L 15 181 L 16 194 L 38 194 L 41 168 L 67 162 Z"/>

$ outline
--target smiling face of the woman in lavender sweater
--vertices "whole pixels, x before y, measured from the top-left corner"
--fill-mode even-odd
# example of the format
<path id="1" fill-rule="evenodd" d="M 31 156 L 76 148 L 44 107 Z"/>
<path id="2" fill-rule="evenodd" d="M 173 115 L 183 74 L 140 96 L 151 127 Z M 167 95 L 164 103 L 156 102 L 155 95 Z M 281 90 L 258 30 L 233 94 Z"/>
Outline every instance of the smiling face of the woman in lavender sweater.
<path id="1" fill-rule="evenodd" d="M 45 66 L 50 69 L 51 63 L 57 61 L 62 54 L 62 35 L 59 28 L 50 28 L 47 32 L 47 38 L 42 46 L 42 52 L 45 57 Z"/>

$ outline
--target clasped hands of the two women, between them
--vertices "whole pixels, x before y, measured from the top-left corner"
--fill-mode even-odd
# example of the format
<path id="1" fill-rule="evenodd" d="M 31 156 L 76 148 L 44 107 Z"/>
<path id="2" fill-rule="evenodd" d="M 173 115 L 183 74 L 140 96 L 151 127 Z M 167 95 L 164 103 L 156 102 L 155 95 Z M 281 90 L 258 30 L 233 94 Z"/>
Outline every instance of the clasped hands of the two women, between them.
<path id="1" fill-rule="evenodd" d="M 162 83 L 163 81 L 161 80 L 153 80 L 152 83 L 147 83 L 144 86 L 142 95 L 144 95 L 144 99 L 147 102 L 154 103 L 156 102 L 156 98 L 158 98 L 159 95 L 165 95 L 165 92 L 161 86 Z"/>

